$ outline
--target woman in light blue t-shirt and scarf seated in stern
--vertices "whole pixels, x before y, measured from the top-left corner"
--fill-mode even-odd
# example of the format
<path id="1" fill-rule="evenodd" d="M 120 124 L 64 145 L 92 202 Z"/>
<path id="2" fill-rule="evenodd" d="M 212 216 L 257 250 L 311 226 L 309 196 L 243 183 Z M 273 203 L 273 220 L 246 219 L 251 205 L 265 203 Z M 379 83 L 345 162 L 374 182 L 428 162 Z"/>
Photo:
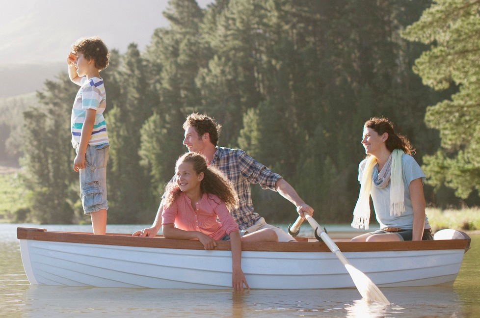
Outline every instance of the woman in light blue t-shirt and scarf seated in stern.
<path id="1" fill-rule="evenodd" d="M 360 194 L 352 227 L 368 229 L 370 196 L 380 230 L 352 241 L 401 241 L 432 239 L 425 214 L 425 174 L 411 156 L 410 141 L 394 132 L 393 123 L 374 117 L 363 128 L 362 144 L 368 155 L 358 167 Z"/>

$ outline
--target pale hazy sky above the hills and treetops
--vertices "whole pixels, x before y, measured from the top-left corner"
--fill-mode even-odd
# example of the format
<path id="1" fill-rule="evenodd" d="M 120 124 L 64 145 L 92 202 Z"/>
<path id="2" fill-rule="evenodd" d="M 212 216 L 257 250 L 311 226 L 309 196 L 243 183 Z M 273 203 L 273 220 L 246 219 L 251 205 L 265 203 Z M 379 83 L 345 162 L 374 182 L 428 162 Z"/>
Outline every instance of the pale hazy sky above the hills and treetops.
<path id="1" fill-rule="evenodd" d="M 80 37 L 100 36 L 110 49 L 142 50 L 163 17 L 167 0 L 1 0 L 0 65 L 66 59 Z M 197 0 L 203 8 L 213 0 Z"/>

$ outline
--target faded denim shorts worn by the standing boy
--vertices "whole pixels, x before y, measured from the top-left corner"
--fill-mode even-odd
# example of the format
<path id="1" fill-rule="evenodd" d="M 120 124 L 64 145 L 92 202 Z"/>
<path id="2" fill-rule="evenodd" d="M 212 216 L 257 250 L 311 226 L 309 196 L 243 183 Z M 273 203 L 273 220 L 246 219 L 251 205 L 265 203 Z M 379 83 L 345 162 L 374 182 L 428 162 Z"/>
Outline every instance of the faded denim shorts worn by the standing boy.
<path id="1" fill-rule="evenodd" d="M 107 161 L 109 144 L 87 146 L 85 168 L 80 169 L 80 197 L 85 214 L 108 210 Z M 76 150 L 78 152 L 78 148 Z"/>

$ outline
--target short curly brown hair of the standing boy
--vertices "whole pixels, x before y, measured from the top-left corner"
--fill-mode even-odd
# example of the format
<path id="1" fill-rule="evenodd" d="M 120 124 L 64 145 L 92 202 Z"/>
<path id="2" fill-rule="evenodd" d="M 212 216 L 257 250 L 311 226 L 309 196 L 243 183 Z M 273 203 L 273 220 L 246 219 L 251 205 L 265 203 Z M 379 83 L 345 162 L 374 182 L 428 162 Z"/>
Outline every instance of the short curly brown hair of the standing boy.
<path id="1" fill-rule="evenodd" d="M 100 71 L 106 69 L 110 62 L 108 47 L 98 36 L 80 38 L 72 45 L 72 52 L 82 53 L 87 60 L 93 59 Z"/>

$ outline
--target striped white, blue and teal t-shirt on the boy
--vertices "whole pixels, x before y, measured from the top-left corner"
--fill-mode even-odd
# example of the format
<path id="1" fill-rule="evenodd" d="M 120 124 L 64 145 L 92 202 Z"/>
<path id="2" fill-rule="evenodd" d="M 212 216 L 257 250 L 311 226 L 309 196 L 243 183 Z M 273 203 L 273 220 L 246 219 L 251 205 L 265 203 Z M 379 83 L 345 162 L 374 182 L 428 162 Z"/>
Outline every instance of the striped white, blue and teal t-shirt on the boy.
<path id="1" fill-rule="evenodd" d="M 81 87 L 72 108 L 72 145 L 76 148 L 80 143 L 81 128 L 85 121 L 85 109 L 96 110 L 95 123 L 88 144 L 95 146 L 108 143 L 107 124 L 103 115 L 107 106 L 104 80 L 96 77 L 91 79 L 83 77 L 80 84 Z"/>

